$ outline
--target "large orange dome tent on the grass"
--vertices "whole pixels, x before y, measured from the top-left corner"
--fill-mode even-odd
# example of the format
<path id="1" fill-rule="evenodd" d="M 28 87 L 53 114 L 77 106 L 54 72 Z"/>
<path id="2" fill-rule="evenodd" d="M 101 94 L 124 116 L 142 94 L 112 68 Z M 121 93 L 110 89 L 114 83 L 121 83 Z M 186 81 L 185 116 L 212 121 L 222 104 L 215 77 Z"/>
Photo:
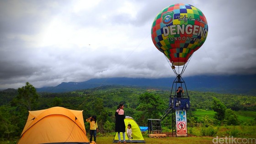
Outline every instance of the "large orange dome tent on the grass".
<path id="1" fill-rule="evenodd" d="M 18 144 L 90 144 L 82 112 L 64 107 L 29 111 Z"/>

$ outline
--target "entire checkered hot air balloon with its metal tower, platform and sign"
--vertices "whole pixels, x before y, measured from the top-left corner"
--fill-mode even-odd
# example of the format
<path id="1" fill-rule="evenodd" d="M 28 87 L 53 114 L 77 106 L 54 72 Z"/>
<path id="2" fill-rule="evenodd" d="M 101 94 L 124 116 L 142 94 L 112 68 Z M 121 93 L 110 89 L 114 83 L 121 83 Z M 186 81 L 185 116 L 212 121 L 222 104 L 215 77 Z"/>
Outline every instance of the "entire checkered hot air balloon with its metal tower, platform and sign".
<path id="1" fill-rule="evenodd" d="M 208 24 L 202 11 L 188 4 L 175 4 L 164 8 L 157 14 L 152 24 L 152 41 L 155 47 L 165 54 L 176 74 L 171 88 L 169 108 L 160 117 L 162 120 L 169 112 L 172 113 L 172 116 L 176 115 L 176 118 L 172 118 L 172 134 L 175 131 L 176 136 L 187 136 L 187 119 L 181 120 L 178 117 L 181 113 L 184 115 L 182 117 L 187 117 L 187 110 L 190 108 L 187 86 L 181 75 L 192 54 L 205 42 L 207 34 Z M 176 91 L 173 94 L 174 84 Z M 178 90 L 177 85 L 179 86 Z M 187 95 L 183 95 L 182 85 L 185 85 Z M 179 127 L 181 123 L 182 128 Z M 183 130 L 181 132 L 178 129 Z"/>

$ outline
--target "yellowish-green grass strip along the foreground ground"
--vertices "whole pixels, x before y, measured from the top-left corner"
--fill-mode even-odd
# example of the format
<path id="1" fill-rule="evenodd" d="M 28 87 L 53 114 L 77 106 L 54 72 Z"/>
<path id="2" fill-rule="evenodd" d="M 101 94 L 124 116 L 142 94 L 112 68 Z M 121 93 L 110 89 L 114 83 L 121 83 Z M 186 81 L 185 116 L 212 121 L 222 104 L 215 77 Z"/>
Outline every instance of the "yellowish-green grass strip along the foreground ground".
<path id="1" fill-rule="evenodd" d="M 213 127 L 217 132 L 216 135 L 202 136 L 201 127 L 188 128 L 188 133 L 194 135 L 192 137 L 169 137 L 167 138 L 149 138 L 147 133 L 143 133 L 146 144 L 213 144 L 212 140 L 218 136 L 219 138 L 225 138 L 234 136 L 234 138 L 256 138 L 256 126 L 218 126 Z M 165 133 L 163 131 L 163 133 Z M 197 133 L 197 134 L 196 134 Z M 113 144 L 115 133 L 108 133 L 108 135 L 97 135 L 97 144 Z M 0 144 L 16 144 L 17 139 L 1 141 Z M 253 143 L 254 144 L 254 143 Z"/>

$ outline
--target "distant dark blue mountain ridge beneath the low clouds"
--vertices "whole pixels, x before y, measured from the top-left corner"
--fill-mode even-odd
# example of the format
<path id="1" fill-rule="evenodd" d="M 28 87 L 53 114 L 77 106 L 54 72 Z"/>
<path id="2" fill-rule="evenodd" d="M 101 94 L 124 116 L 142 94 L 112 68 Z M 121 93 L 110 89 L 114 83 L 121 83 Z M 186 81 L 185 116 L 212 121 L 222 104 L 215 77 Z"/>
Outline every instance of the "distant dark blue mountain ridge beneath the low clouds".
<path id="1" fill-rule="evenodd" d="M 174 77 L 160 79 L 144 78 L 105 78 L 91 79 L 84 82 L 63 82 L 57 86 L 37 88 L 38 92 L 67 92 L 95 88 L 104 85 L 127 85 L 170 90 Z M 230 94 L 256 96 L 256 75 L 231 76 L 193 76 L 184 77 L 187 90 L 210 91 Z"/>

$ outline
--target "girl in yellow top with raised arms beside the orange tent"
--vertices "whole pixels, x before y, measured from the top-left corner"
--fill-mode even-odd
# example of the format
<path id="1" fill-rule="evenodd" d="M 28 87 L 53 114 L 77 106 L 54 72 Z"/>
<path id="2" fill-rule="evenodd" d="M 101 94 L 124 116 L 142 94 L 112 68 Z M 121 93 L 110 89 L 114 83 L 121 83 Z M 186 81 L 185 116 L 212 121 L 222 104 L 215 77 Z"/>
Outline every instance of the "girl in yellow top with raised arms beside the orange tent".
<path id="1" fill-rule="evenodd" d="M 86 119 L 86 122 L 90 123 L 90 143 L 92 141 L 92 136 L 94 138 L 94 142 L 96 142 L 96 132 L 98 130 L 97 117 L 92 116 Z"/>

